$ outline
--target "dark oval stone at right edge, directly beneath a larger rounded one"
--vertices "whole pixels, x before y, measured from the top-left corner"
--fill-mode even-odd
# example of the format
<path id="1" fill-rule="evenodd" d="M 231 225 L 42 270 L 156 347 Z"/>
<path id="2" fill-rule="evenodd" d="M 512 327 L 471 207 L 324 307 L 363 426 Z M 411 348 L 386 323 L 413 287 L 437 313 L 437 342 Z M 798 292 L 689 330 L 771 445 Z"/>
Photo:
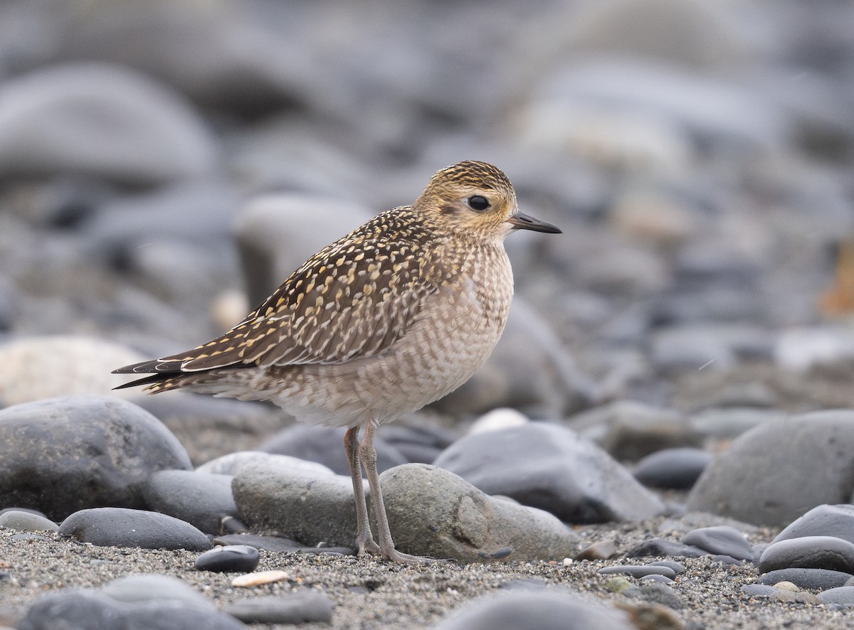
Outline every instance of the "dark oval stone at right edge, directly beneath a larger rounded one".
<path id="1" fill-rule="evenodd" d="M 775 542 L 759 558 L 760 573 L 775 569 L 830 569 L 854 574 L 854 544 L 833 536 Z"/>

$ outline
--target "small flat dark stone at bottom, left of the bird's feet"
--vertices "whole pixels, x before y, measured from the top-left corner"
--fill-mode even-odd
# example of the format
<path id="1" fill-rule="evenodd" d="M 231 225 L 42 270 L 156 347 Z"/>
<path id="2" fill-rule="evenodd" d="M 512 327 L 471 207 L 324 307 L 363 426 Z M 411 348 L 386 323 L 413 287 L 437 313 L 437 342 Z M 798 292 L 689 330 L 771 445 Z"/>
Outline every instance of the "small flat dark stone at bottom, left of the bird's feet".
<path id="1" fill-rule="evenodd" d="M 302 591 L 234 602 L 225 612 L 245 623 L 330 623 L 333 608 L 323 593 Z"/>

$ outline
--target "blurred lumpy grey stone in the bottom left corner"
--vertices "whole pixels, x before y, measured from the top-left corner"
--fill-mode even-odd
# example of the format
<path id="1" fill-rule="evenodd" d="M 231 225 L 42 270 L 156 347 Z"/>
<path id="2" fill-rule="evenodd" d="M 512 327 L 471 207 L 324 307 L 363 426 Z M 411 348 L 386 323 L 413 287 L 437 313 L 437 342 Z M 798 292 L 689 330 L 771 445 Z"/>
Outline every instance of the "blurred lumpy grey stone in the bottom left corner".
<path id="1" fill-rule="evenodd" d="M 211 604 L 188 604 L 155 599 L 137 603 L 117 601 L 91 590 L 62 589 L 38 598 L 19 622 L 20 630 L 240 630 L 243 623 Z"/>

